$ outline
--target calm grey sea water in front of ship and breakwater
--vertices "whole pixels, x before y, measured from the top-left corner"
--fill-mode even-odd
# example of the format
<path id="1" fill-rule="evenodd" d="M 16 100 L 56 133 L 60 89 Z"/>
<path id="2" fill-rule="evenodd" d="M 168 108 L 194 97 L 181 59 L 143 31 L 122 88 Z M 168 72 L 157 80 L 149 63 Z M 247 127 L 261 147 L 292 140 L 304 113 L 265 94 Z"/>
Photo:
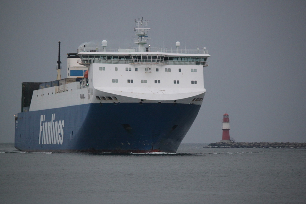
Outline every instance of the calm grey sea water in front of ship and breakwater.
<path id="1" fill-rule="evenodd" d="M 0 203 L 306 203 L 306 149 L 27 153 L 0 143 Z"/>

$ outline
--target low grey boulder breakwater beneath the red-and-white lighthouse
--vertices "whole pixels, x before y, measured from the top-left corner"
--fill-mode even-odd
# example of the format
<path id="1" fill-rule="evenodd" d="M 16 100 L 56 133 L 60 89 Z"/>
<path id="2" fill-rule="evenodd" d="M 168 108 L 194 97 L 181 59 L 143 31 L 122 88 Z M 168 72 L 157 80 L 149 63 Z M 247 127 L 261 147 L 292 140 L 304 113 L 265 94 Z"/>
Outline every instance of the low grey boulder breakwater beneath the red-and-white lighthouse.
<path id="1" fill-rule="evenodd" d="M 236 143 L 236 142 L 217 142 L 217 143 L 210 143 L 206 147 L 232 147 L 232 148 L 306 148 L 306 143 Z"/>

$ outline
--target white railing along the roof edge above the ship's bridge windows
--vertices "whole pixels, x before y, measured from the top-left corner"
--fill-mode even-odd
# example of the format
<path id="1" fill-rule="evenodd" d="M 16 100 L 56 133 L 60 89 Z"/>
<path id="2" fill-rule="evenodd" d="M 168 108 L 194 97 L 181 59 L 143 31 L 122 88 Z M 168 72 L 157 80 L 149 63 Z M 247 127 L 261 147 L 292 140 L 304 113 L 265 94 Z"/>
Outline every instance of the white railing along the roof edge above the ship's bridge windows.
<path id="1" fill-rule="evenodd" d="M 138 52 L 138 47 L 132 48 L 103 48 L 103 47 L 81 47 L 77 52 Z M 176 49 L 176 48 L 161 48 L 161 47 L 147 47 L 147 52 L 164 52 L 173 54 L 208 54 L 206 49 Z"/>

